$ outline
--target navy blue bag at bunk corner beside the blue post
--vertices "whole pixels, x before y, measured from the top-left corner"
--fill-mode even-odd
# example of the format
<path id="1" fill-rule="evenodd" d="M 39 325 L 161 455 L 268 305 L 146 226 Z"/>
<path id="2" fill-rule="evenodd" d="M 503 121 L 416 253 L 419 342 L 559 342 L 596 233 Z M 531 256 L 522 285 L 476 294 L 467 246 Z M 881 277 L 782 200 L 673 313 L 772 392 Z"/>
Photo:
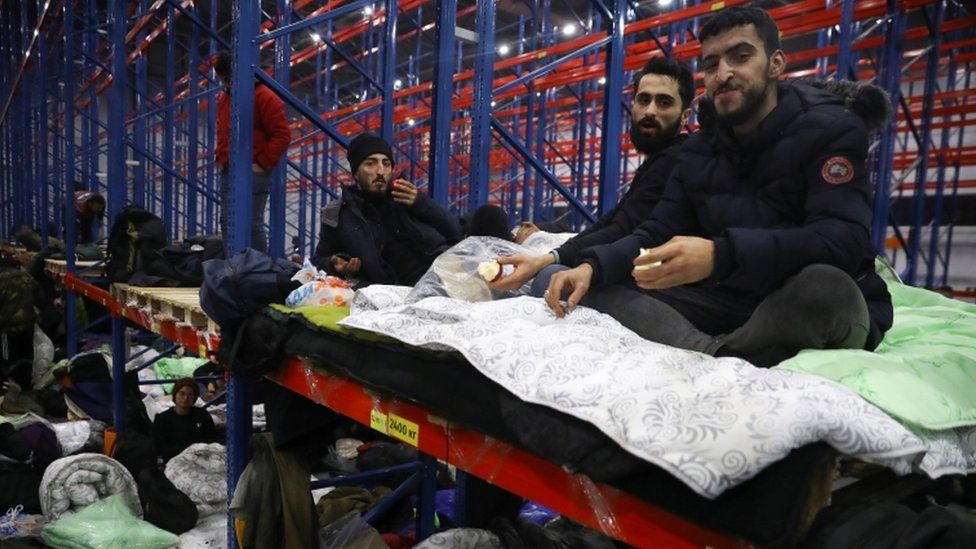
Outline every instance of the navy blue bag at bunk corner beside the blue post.
<path id="1" fill-rule="evenodd" d="M 204 261 L 200 307 L 222 331 L 233 330 L 265 305 L 283 302 L 299 286 L 289 280 L 297 271 L 294 263 L 252 249 Z"/>

